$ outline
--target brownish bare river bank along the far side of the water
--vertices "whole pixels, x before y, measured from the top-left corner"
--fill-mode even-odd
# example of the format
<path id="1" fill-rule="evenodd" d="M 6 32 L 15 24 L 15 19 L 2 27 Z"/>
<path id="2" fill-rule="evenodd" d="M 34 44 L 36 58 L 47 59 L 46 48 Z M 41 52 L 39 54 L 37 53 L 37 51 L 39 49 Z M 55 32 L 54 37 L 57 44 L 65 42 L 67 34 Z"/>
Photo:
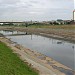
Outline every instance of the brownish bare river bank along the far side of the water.
<path id="1" fill-rule="evenodd" d="M 75 29 L 51 29 L 51 28 L 26 28 L 26 27 L 0 27 L 0 30 L 16 30 L 52 37 L 75 43 Z"/>

